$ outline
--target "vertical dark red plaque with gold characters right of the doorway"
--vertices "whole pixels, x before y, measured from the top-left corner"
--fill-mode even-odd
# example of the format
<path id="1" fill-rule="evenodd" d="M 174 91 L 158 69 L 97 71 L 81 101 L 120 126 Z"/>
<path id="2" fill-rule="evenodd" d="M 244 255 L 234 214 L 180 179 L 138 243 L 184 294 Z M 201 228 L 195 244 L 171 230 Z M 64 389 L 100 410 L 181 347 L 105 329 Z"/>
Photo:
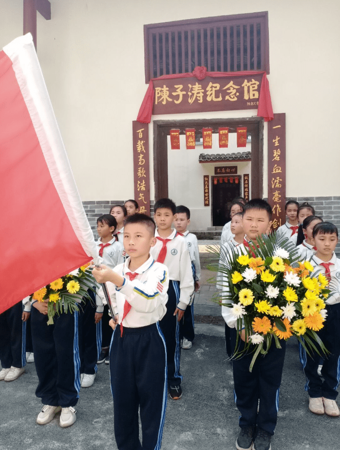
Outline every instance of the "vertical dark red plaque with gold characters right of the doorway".
<path id="1" fill-rule="evenodd" d="M 273 210 L 273 230 L 285 223 L 285 128 L 285 113 L 274 114 L 274 119 L 268 126 L 268 203 Z"/>

